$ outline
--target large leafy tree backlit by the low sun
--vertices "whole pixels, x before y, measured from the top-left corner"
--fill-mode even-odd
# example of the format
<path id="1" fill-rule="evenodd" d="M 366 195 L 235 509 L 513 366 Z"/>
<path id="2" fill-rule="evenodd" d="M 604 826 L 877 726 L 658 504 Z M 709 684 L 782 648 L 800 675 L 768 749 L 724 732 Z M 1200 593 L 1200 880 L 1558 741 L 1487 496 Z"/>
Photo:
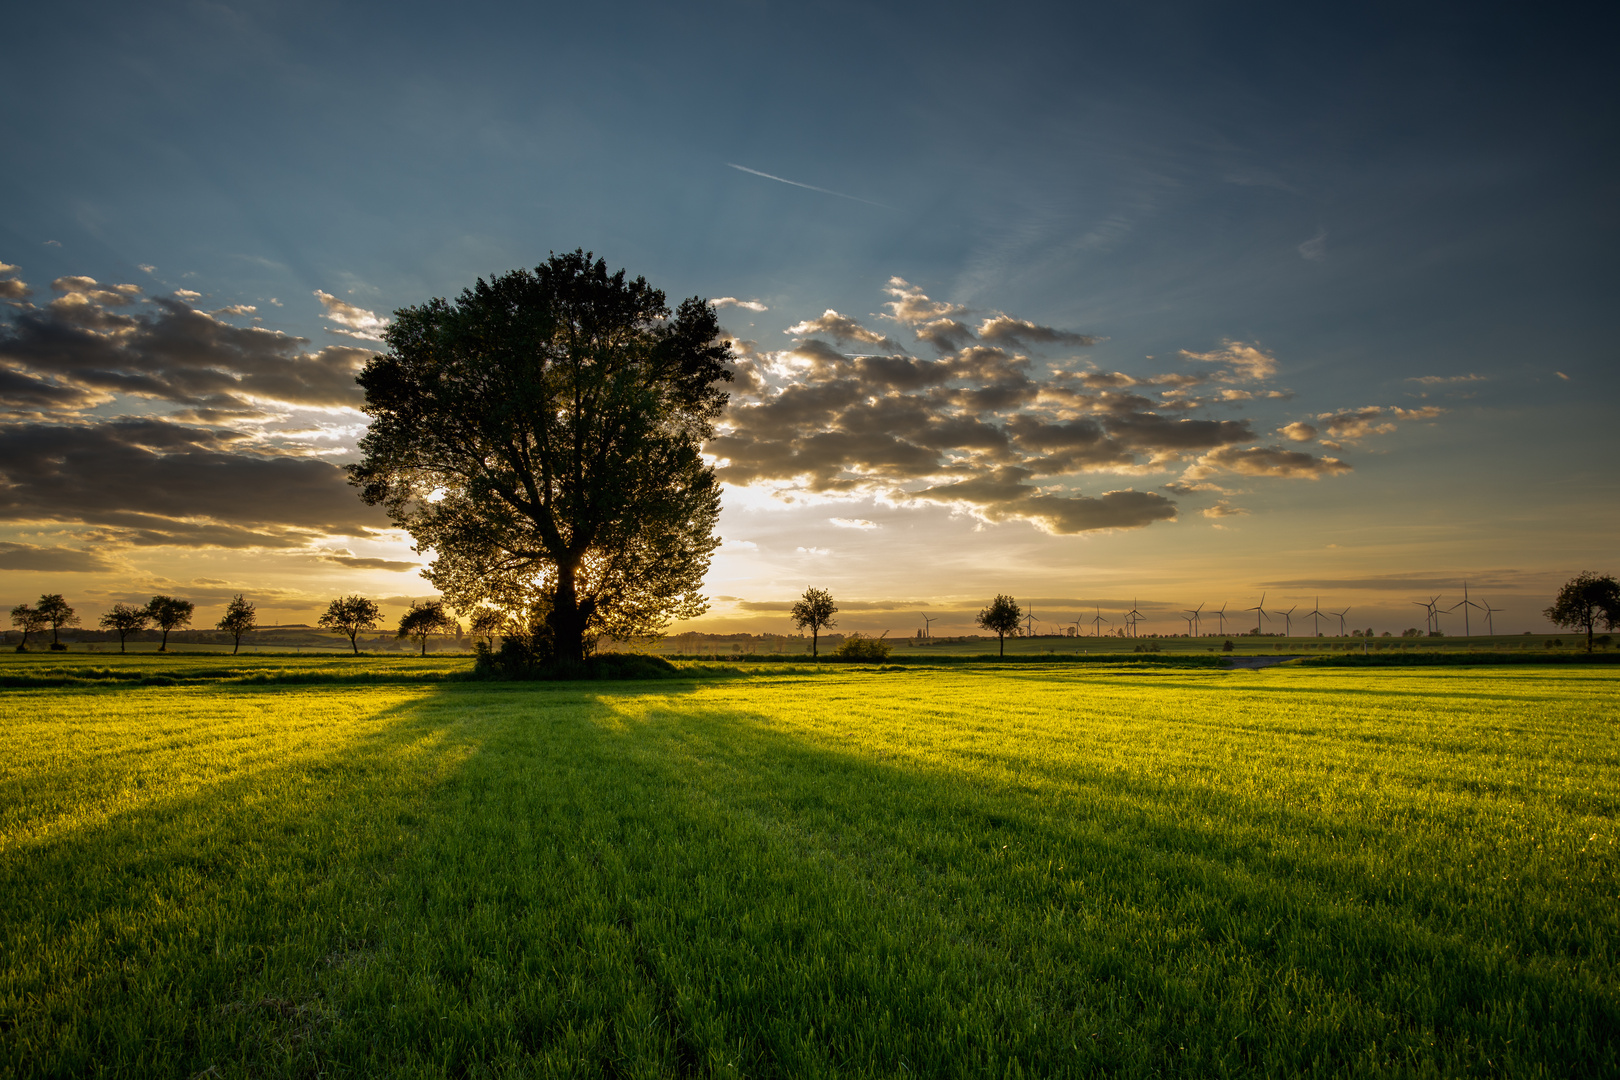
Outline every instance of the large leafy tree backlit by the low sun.
<path id="1" fill-rule="evenodd" d="M 384 337 L 350 478 L 433 552 L 452 607 L 526 619 L 564 662 L 706 609 L 719 486 L 700 447 L 732 359 L 710 304 L 671 313 L 573 251 L 403 308 Z"/>

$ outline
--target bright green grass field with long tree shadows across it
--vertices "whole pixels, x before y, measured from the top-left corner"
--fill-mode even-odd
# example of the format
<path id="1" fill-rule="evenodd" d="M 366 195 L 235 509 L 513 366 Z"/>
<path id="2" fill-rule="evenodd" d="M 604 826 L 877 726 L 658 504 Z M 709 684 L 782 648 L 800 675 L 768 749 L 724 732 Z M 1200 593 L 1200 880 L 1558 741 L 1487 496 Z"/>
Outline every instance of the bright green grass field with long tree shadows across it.
<path id="1" fill-rule="evenodd" d="M 0 691 L 0 1072 L 1620 1072 L 1614 667 L 185 664 Z"/>

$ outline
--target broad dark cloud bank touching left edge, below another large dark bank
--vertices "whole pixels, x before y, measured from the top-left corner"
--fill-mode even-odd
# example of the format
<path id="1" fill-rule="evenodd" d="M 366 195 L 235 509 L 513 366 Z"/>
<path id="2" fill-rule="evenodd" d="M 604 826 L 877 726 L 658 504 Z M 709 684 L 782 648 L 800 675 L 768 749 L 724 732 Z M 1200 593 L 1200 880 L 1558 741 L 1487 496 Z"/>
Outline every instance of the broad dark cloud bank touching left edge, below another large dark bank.
<path id="1" fill-rule="evenodd" d="M 156 418 L 0 424 L 0 518 L 180 547 L 306 547 L 389 528 L 342 468 L 245 444 L 240 432 Z"/>

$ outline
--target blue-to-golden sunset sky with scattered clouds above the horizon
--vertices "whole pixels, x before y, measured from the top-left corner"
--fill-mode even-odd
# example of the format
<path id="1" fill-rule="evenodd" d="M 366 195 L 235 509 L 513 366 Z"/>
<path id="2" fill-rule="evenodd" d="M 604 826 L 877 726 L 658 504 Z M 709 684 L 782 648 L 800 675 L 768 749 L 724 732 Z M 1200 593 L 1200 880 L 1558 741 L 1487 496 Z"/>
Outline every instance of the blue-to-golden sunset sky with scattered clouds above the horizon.
<path id="1" fill-rule="evenodd" d="M 585 248 L 737 342 L 677 630 L 1550 630 L 1620 573 L 1614 16 L 1319 6 L 10 11 L 0 601 L 429 596 L 353 374 Z"/>

